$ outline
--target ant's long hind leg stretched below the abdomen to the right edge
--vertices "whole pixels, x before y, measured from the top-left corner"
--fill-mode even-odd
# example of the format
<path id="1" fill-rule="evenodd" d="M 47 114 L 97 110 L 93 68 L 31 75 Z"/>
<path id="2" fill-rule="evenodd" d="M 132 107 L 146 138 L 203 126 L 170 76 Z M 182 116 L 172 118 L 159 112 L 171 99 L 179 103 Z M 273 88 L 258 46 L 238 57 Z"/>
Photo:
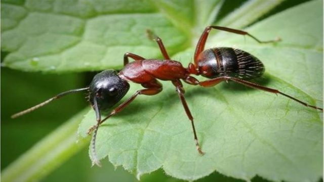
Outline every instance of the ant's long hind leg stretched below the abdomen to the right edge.
<path id="1" fill-rule="evenodd" d="M 238 79 L 238 78 L 234 78 L 234 77 L 228 77 L 228 76 L 218 77 L 218 78 L 210 79 L 210 80 L 207 80 L 207 81 L 199 82 L 199 85 L 200 86 L 203 86 L 203 87 L 212 87 L 212 86 L 215 86 L 215 85 L 219 84 L 222 81 L 227 81 L 227 80 L 231 80 L 231 81 L 234 81 L 236 83 L 239 83 L 239 84 L 242 84 L 242 85 L 245 85 L 245 86 L 254 88 L 254 89 L 260 89 L 260 90 L 263 90 L 263 91 L 266 91 L 266 92 L 280 94 L 280 95 L 283 95 L 283 96 L 288 97 L 290 99 L 293 99 L 296 102 L 298 102 L 298 103 L 300 103 L 300 104 L 302 104 L 302 105 L 304 105 L 306 107 L 311 107 L 311 108 L 314 108 L 314 109 L 318 109 L 320 111 L 323 111 L 323 109 L 320 108 L 320 107 L 316 107 L 314 105 L 310 105 L 310 104 L 308 104 L 306 102 L 303 102 L 303 101 L 301 101 L 301 100 L 299 100 L 299 99 L 297 99 L 297 98 L 295 98 L 293 96 L 290 96 L 288 94 L 285 94 L 283 92 L 280 92 L 279 90 L 272 89 L 272 88 L 268 88 L 268 87 L 264 87 L 264 86 L 259 85 L 259 84 L 256 84 L 256 83 L 249 82 L 249 81 L 242 80 L 242 79 Z"/>

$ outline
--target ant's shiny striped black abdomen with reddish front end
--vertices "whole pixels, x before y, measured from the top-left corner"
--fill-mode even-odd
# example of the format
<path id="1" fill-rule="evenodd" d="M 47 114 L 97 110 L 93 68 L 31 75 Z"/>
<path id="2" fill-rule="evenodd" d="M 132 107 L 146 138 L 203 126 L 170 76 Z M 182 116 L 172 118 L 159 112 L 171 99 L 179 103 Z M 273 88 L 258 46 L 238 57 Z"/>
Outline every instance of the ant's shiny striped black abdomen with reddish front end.
<path id="1" fill-rule="evenodd" d="M 262 62 L 255 56 L 240 49 L 218 47 L 201 52 L 198 57 L 201 76 L 216 78 L 230 76 L 253 79 L 264 73 Z"/>

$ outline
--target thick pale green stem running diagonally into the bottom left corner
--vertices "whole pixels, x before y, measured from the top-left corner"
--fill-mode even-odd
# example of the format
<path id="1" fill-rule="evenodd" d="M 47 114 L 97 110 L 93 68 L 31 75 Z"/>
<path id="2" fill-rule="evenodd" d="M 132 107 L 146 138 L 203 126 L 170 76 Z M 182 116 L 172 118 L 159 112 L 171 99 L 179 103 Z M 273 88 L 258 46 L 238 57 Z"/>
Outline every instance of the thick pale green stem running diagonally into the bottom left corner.
<path id="1" fill-rule="evenodd" d="M 89 144 L 90 137 L 77 138 L 77 128 L 89 108 L 66 123 L 11 163 L 2 172 L 2 181 L 39 181 Z"/>

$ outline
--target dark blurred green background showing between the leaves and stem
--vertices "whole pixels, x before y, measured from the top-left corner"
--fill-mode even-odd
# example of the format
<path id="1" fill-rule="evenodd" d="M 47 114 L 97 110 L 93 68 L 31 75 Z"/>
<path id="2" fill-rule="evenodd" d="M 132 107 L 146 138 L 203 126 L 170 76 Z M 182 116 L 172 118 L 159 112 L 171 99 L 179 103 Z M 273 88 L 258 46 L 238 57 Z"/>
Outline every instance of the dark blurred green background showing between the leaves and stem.
<path id="1" fill-rule="evenodd" d="M 226 1 L 220 11 L 219 19 L 244 2 Z M 306 1 L 286 1 L 263 18 L 303 2 Z M 1 62 L 6 54 L 7 52 L 1 52 Z M 85 95 L 79 93 L 55 101 L 17 119 L 11 119 L 10 116 L 62 91 L 85 87 L 90 83 L 94 74 L 25 73 L 1 68 L 1 170 L 72 115 L 89 107 L 89 104 Z M 101 168 L 91 167 L 88 147 L 85 147 L 42 181 L 137 181 L 135 175 L 123 168 L 114 169 L 107 159 L 102 161 L 102 166 Z M 141 179 L 141 181 L 178 181 L 175 178 L 167 177 L 161 170 L 146 174 Z M 218 173 L 198 181 L 215 181 L 216 179 L 219 181 L 240 181 Z M 266 180 L 256 177 L 253 181 Z"/>

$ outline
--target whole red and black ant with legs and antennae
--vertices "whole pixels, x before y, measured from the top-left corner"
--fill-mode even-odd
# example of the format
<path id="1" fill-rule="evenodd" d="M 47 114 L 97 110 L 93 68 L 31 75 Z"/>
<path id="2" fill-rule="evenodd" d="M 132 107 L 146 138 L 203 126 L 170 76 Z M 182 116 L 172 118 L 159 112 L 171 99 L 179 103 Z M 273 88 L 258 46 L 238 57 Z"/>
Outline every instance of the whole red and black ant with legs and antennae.
<path id="1" fill-rule="evenodd" d="M 259 84 L 247 81 L 261 77 L 264 73 L 264 66 L 262 62 L 252 54 L 240 49 L 230 47 L 215 47 L 204 50 L 209 32 L 212 29 L 227 31 L 235 34 L 248 35 L 259 43 L 271 43 L 280 40 L 276 39 L 261 41 L 245 31 L 220 26 L 208 26 L 206 27 L 203 34 L 201 34 L 200 39 L 198 40 L 198 43 L 196 45 L 194 52 L 194 63 L 189 63 L 188 67 L 184 68 L 180 62 L 177 62 L 176 60 L 172 60 L 170 58 L 162 40 L 154 35 L 151 31 L 147 31 L 149 37 L 157 42 L 159 49 L 164 56 L 164 59 L 146 59 L 134 53 L 127 52 L 124 55 L 124 68 L 121 71 L 117 72 L 115 70 L 105 70 L 101 73 L 98 73 L 93 78 L 89 87 L 73 89 L 60 93 L 43 103 L 12 115 L 12 118 L 33 111 L 65 95 L 80 91 L 89 91 L 90 103 L 96 112 L 97 118 L 97 124 L 91 127 L 88 131 L 88 134 L 94 132 L 91 140 L 91 158 L 93 164 L 100 166 L 100 161 L 98 160 L 96 154 L 96 135 L 100 124 L 102 124 L 109 117 L 117 114 L 125 107 L 127 107 L 138 95 L 156 95 L 160 93 L 163 89 L 163 86 L 158 80 L 171 81 L 175 86 L 176 92 L 178 93 L 186 115 L 191 121 L 196 149 L 201 155 L 203 155 L 204 152 L 201 150 L 198 143 L 193 117 L 184 97 L 185 90 L 182 86 L 181 80 L 190 85 L 200 85 L 203 87 L 212 87 L 222 81 L 233 81 L 254 89 L 260 89 L 267 92 L 280 94 L 293 99 L 305 106 L 321 111 L 323 110 L 322 108 L 309 105 L 295 97 L 282 93 L 279 90 L 264 87 Z M 133 58 L 135 61 L 130 63 L 129 58 Z M 201 75 L 203 77 L 209 78 L 209 80 L 200 82 L 191 75 Z M 101 112 L 109 110 L 126 95 L 130 88 L 128 82 L 141 84 L 144 89 L 135 92 L 130 98 L 119 104 L 117 107 L 111 110 L 105 118 L 102 119 Z"/>

